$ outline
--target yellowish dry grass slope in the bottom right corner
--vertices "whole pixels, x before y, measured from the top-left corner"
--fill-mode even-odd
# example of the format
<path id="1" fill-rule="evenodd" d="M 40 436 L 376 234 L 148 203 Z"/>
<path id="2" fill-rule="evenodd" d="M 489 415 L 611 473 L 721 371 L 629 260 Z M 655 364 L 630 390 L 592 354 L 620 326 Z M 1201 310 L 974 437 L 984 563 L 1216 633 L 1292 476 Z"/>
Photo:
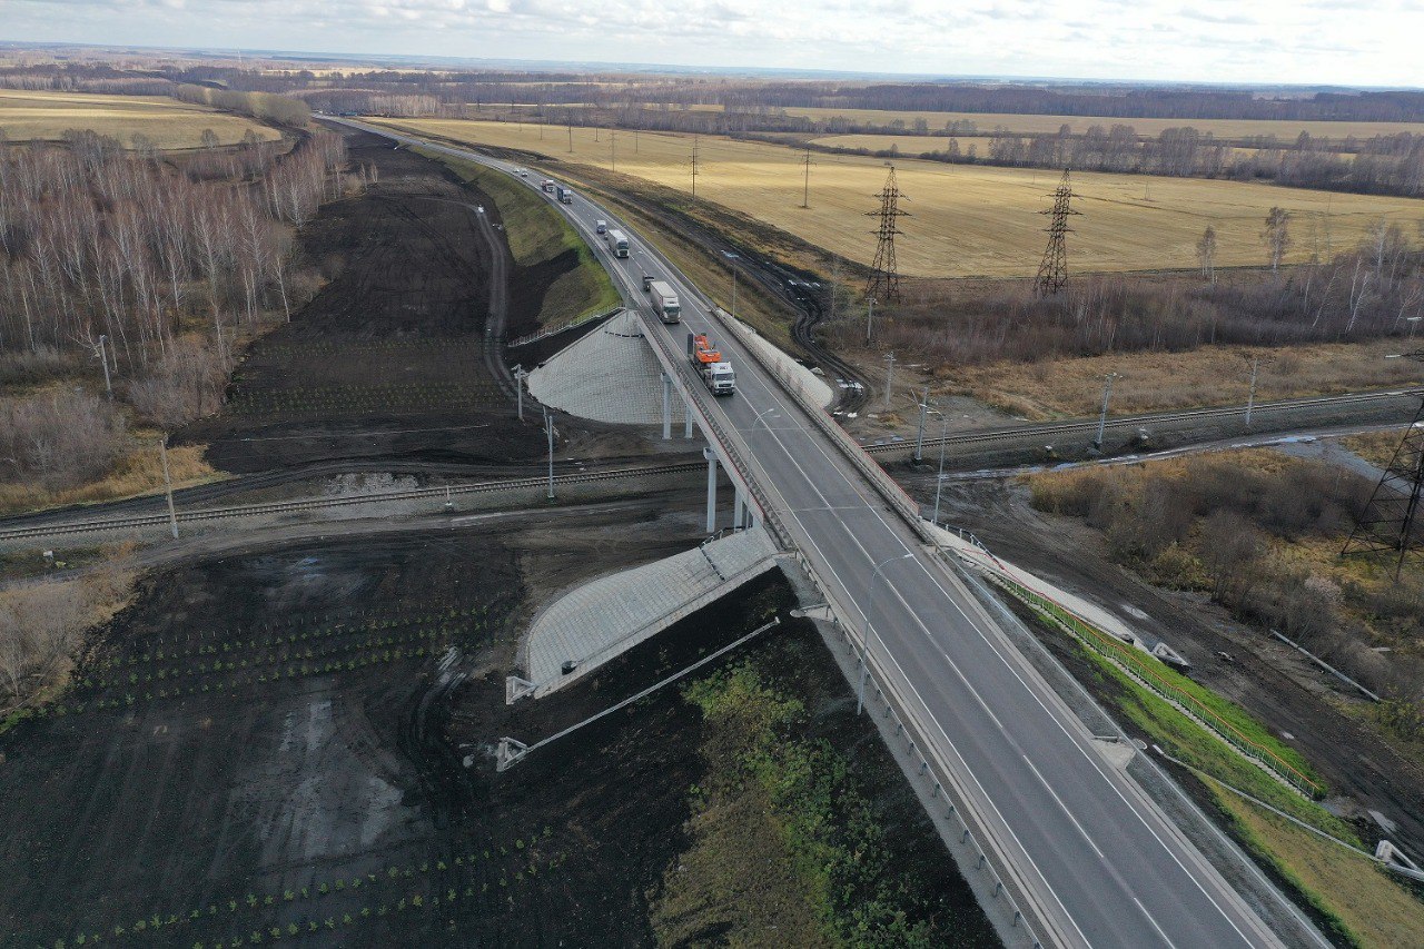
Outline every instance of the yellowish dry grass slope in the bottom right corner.
<path id="1" fill-rule="evenodd" d="M 1367 946 L 1424 946 L 1424 903 L 1371 861 L 1227 791 L 1218 801 L 1279 866 Z"/>

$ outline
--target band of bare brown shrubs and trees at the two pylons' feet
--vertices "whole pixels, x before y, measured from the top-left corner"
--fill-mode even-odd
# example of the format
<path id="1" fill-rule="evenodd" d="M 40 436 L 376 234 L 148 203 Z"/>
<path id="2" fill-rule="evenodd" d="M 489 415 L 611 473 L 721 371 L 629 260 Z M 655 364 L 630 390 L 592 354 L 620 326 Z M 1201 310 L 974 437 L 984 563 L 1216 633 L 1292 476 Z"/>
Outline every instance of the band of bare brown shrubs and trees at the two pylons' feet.
<path id="1" fill-rule="evenodd" d="M 1292 225 L 1280 209 L 1263 222 L 1267 264 L 1299 239 Z M 1384 221 L 1347 254 L 1274 275 L 1216 279 L 1210 228 L 1198 252 L 1205 279 L 1089 275 L 1049 298 L 1035 296 L 1028 281 L 1005 281 L 973 299 L 946 301 L 936 282 L 907 281 L 904 302 L 883 311 L 877 343 L 927 362 L 980 365 L 1408 336 L 1418 325 L 1411 318 L 1424 316 L 1424 252 Z M 832 333 L 833 342 L 856 345 L 863 326 L 857 318 Z"/>

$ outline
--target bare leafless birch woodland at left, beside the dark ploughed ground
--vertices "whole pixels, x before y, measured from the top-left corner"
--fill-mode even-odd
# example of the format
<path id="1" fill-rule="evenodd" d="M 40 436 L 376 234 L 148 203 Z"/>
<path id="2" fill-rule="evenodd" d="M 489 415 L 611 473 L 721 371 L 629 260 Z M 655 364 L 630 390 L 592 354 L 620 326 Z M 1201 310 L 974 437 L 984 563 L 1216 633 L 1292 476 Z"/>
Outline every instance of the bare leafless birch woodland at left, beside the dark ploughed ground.
<path id="1" fill-rule="evenodd" d="M 236 341 L 312 289 L 290 229 L 359 184 L 340 172 L 345 141 L 318 131 L 288 155 L 252 142 L 232 158 L 244 177 L 211 180 L 91 131 L 64 138 L 0 144 L 0 379 L 87 366 L 164 429 L 215 410 Z M 3 480 L 81 483 L 124 443 L 122 413 L 94 396 L 0 409 Z"/>

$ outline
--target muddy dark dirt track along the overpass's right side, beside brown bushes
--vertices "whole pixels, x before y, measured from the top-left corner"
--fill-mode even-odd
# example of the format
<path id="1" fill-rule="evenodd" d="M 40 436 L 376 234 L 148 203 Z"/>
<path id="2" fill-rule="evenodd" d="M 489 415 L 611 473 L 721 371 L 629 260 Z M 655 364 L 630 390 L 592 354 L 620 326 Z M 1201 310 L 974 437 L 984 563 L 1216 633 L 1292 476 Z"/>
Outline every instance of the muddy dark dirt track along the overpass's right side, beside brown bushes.
<path id="1" fill-rule="evenodd" d="M 924 499 L 934 489 L 920 483 L 911 490 Z M 1397 825 L 1384 836 L 1408 854 L 1424 852 L 1424 769 L 1340 711 L 1340 702 L 1358 701 L 1340 691 L 1341 683 L 1203 597 L 1159 590 L 1109 561 L 1098 531 L 1041 514 L 1030 507 L 1027 489 L 1000 480 L 950 482 L 941 502 L 944 520 L 973 530 L 995 554 L 1186 655 L 1193 680 L 1250 711 L 1310 759 L 1333 789 L 1326 804 L 1357 821 L 1363 836 L 1381 835 L 1366 814 L 1374 809 Z M 1218 651 L 1235 661 L 1219 660 Z"/>

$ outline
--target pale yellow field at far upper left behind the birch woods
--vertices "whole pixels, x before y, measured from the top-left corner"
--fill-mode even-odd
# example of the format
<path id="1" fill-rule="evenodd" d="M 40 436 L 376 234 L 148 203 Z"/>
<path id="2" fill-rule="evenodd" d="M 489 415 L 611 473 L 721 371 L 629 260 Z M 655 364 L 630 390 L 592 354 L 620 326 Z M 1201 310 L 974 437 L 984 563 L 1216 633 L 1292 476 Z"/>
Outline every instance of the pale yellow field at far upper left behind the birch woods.
<path id="1" fill-rule="evenodd" d="M 224 145 L 242 141 L 248 130 L 263 141 L 281 138 L 275 128 L 242 115 L 159 95 L 0 90 L 0 130 L 10 141 L 58 141 L 70 128 L 112 135 L 125 147 L 135 134 L 148 135 L 164 151 L 197 148 L 205 128 L 211 128 Z"/>

